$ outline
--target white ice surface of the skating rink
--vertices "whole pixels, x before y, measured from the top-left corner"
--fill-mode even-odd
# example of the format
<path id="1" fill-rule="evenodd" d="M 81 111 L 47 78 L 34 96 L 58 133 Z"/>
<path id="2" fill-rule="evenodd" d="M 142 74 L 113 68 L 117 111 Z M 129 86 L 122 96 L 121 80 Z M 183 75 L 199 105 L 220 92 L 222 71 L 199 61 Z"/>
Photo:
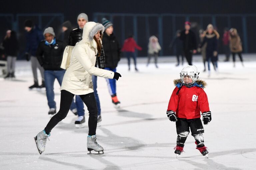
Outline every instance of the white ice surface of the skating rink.
<path id="1" fill-rule="evenodd" d="M 119 110 L 113 107 L 106 80 L 98 78 L 102 123 L 97 141 L 104 147 L 103 155 L 87 154 L 88 126 L 75 128 L 77 117 L 72 112 L 53 128 L 45 152 L 38 153 L 33 137 L 49 121 L 45 89 L 29 91 L 33 83 L 30 62 L 17 61 L 17 78 L 0 78 L 0 170 L 254 170 L 255 57 L 245 56 L 245 67 L 239 61 L 235 68 L 232 62 L 219 62 L 219 73 L 212 71 L 209 78 L 200 58 L 194 59 L 199 78 L 208 83 L 205 91 L 212 121 L 204 126 L 204 139 L 209 159 L 195 149 L 191 134 L 185 152 L 178 158 L 174 154 L 176 128 L 166 110 L 175 87 L 173 79 L 179 78 L 182 66 L 175 67 L 174 57 L 160 58 L 158 69 L 153 63 L 146 67 L 145 60 L 139 59 L 139 72 L 133 65 L 128 71 L 126 60 L 121 60 L 117 68 L 122 75 L 117 81 Z M 54 87 L 58 110 L 57 81 Z"/>

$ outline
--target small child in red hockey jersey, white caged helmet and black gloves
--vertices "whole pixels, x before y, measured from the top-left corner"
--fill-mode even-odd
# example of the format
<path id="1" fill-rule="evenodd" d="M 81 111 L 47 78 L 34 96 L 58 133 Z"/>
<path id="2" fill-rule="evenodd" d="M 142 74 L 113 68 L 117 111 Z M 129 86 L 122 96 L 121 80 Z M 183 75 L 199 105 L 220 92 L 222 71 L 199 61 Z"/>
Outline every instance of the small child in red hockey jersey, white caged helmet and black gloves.
<path id="1" fill-rule="evenodd" d="M 196 149 L 203 156 L 208 154 L 204 145 L 204 128 L 200 120 L 200 112 L 204 125 L 207 125 L 212 118 L 207 95 L 203 90 L 206 82 L 198 80 L 198 74 L 196 66 L 187 65 L 181 70 L 180 79 L 174 80 L 176 87 L 172 92 L 166 114 L 170 121 L 176 122 L 178 136 L 174 153 L 177 155 L 183 152 L 184 143 L 190 132 L 189 128 L 196 140 Z"/>

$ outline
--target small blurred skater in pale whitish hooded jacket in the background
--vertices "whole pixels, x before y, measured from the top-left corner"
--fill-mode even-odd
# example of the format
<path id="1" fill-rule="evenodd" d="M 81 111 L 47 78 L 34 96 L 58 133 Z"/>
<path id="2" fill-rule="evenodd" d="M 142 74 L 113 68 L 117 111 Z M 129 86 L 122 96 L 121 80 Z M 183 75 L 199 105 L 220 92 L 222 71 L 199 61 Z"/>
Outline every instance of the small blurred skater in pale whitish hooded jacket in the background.
<path id="1" fill-rule="evenodd" d="M 156 36 L 151 36 L 149 38 L 149 43 L 148 43 L 148 62 L 147 62 L 147 66 L 150 63 L 150 59 L 152 56 L 155 57 L 155 65 L 156 68 L 158 68 L 157 66 L 157 59 L 158 59 L 158 52 L 161 50 L 161 46 L 158 42 L 158 38 L 156 38 Z"/>

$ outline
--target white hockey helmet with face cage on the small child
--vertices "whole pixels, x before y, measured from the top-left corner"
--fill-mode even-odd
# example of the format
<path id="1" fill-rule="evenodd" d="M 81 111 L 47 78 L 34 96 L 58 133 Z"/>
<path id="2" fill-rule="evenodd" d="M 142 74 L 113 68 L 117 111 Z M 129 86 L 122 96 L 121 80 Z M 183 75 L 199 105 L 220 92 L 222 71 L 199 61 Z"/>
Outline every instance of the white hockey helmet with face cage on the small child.
<path id="1" fill-rule="evenodd" d="M 180 80 L 182 84 L 184 84 L 186 87 L 192 86 L 196 80 L 198 79 L 198 70 L 195 65 L 186 65 L 180 72 Z M 184 77 L 189 77 L 192 79 L 192 82 L 186 82 L 184 81 Z"/>

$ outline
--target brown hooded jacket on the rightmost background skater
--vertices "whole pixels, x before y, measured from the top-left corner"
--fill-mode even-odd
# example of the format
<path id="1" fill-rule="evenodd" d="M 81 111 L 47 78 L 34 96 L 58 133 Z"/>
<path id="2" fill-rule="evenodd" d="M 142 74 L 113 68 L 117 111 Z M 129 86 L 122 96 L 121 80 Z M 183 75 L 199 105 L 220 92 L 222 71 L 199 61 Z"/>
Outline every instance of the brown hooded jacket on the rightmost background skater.
<path id="1" fill-rule="evenodd" d="M 237 30 L 233 28 L 233 32 L 235 33 L 235 35 L 234 36 L 230 35 L 230 43 L 229 43 L 230 51 L 242 52 L 243 50 L 242 43 L 239 35 L 237 34 Z"/>

